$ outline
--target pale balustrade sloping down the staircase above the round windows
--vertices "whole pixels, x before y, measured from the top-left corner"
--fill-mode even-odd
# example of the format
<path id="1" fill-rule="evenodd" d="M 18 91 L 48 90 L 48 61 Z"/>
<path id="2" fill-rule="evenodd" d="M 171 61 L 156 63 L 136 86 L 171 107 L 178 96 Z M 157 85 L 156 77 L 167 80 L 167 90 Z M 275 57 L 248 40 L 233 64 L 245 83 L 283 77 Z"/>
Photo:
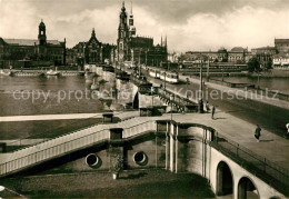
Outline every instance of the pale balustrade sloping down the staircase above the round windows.
<path id="1" fill-rule="evenodd" d="M 136 136 L 140 132 L 156 130 L 157 125 L 156 121 L 146 121 L 132 127 L 123 128 L 124 138 Z M 34 146 L 30 146 L 29 148 L 24 148 L 11 153 L 11 157 L 14 158 L 10 161 L 0 165 L 0 176 L 16 172 L 20 169 L 28 168 L 30 166 L 40 163 L 42 161 L 49 160 L 51 158 L 57 158 L 66 155 L 67 152 L 72 152 L 78 149 L 88 147 L 98 141 L 104 141 L 110 139 L 110 128 L 101 129 L 99 131 L 92 132 L 92 129 L 83 129 L 81 135 L 82 137 L 73 138 L 73 133 L 66 135 L 64 137 L 70 137 L 70 140 L 62 142 L 63 137 L 59 137 L 58 139 L 52 139 L 49 141 L 44 141 Z M 61 140 L 62 138 L 62 140 Z M 51 147 L 46 147 L 47 145 L 51 145 Z"/>

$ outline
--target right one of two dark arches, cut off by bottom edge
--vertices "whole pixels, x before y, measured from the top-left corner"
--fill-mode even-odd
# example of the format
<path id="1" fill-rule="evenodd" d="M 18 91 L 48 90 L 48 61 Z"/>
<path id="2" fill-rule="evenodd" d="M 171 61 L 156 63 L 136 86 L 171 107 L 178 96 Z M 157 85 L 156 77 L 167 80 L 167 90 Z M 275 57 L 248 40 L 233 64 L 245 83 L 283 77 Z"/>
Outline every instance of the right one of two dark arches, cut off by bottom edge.
<path id="1" fill-rule="evenodd" d="M 259 191 L 250 177 L 245 176 L 238 182 L 238 199 L 259 199 Z"/>

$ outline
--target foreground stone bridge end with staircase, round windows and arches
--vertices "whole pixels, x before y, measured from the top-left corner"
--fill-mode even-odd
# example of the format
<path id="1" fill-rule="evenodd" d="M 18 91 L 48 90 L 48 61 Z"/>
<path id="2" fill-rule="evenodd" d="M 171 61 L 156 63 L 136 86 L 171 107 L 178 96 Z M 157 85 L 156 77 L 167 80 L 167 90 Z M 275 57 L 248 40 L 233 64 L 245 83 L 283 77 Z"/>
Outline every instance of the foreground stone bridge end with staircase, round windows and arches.
<path id="1" fill-rule="evenodd" d="M 124 168 L 165 168 L 206 177 L 218 196 L 285 198 L 288 172 L 235 146 L 215 129 L 165 117 L 137 117 L 96 125 L 13 152 L 1 153 L 0 176 L 42 170 L 110 170 L 123 155 Z"/>

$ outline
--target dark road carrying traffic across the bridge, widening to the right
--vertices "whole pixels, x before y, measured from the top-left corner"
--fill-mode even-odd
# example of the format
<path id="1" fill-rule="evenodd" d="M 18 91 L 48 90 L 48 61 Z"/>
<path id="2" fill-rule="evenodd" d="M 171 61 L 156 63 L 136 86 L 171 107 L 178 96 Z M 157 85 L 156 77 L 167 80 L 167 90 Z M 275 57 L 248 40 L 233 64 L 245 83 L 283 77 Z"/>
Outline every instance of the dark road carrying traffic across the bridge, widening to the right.
<path id="1" fill-rule="evenodd" d="M 147 77 L 148 73 L 143 70 L 142 71 Z M 162 80 L 153 79 L 148 77 L 148 79 L 157 84 L 165 84 Z M 176 89 L 176 91 L 180 91 L 180 93 L 186 94 L 187 91 L 187 84 L 170 84 L 166 83 L 167 88 Z M 193 93 L 199 90 L 199 84 L 197 83 L 190 83 L 188 86 L 188 90 L 193 91 Z M 210 94 L 212 88 L 207 88 L 205 86 L 205 101 L 209 101 L 210 105 L 215 105 L 219 111 L 228 112 L 235 117 L 238 117 L 240 119 L 243 119 L 250 123 L 258 123 L 261 128 L 267 129 L 268 131 L 271 131 L 276 135 L 279 135 L 281 137 L 286 137 L 286 123 L 289 122 L 289 110 L 282 109 L 279 107 L 275 107 L 268 103 L 258 102 L 250 99 L 230 99 L 228 98 L 228 93 L 222 92 L 222 98 L 213 98 Z M 219 96 L 221 96 L 221 91 L 215 91 L 218 92 Z M 196 97 L 196 94 L 195 94 Z M 218 115 L 218 111 L 217 111 Z M 236 129 L 238 131 L 238 129 Z M 252 129 L 253 131 L 253 129 Z"/>

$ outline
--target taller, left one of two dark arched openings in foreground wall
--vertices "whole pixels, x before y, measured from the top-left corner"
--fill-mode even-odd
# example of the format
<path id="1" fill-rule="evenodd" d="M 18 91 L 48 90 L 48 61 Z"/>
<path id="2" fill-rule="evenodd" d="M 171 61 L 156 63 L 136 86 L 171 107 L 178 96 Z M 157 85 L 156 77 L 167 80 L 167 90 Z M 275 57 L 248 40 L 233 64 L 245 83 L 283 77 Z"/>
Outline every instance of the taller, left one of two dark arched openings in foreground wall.
<path id="1" fill-rule="evenodd" d="M 233 176 L 229 165 L 221 160 L 217 166 L 217 195 L 227 196 L 233 193 Z"/>

